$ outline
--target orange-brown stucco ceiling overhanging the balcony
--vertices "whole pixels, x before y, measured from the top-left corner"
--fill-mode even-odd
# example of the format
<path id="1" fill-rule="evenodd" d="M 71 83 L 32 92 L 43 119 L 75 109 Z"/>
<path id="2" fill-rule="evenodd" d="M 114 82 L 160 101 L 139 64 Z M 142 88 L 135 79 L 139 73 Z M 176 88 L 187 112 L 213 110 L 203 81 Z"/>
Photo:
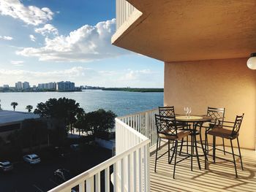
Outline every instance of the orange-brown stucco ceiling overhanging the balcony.
<path id="1" fill-rule="evenodd" d="M 161 61 L 244 58 L 256 52 L 255 0 L 129 0 L 143 15 L 113 45 Z"/>

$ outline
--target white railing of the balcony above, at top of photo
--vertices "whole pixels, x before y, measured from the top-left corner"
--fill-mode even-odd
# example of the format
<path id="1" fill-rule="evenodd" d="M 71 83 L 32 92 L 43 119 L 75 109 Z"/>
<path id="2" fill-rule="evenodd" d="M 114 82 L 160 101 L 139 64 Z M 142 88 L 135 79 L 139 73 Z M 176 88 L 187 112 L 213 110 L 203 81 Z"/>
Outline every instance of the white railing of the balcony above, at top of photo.
<path id="1" fill-rule="evenodd" d="M 116 0 L 116 29 L 118 29 L 135 11 L 135 7 L 126 0 Z"/>

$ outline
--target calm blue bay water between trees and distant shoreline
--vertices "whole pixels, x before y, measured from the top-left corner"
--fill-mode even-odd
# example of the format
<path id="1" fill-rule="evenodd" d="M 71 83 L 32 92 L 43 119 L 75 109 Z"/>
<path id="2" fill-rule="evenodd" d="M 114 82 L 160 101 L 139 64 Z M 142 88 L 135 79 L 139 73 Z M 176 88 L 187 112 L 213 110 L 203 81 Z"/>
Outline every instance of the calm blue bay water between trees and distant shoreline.
<path id="1" fill-rule="evenodd" d="M 134 112 L 151 110 L 163 105 L 163 93 L 137 93 L 125 91 L 86 90 L 81 92 L 28 92 L 28 93 L 0 93 L 1 108 L 13 110 L 10 105 L 18 103 L 17 111 L 27 111 L 26 106 L 34 109 L 39 102 L 50 98 L 66 97 L 75 99 L 86 112 L 98 110 L 112 110 L 116 115 L 128 115 Z"/>

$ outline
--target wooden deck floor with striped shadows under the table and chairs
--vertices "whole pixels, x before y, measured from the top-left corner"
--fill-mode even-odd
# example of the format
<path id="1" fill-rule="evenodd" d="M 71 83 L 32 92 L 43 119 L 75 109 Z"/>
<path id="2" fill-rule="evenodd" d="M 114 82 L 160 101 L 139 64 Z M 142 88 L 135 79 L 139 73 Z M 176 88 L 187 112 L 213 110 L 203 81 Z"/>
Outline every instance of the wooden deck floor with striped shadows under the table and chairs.
<path id="1" fill-rule="evenodd" d="M 230 148 L 227 147 L 228 151 Z M 162 152 L 167 151 L 167 146 Z M 238 153 L 237 149 L 235 149 Z M 200 152 L 202 153 L 202 152 Z M 202 170 L 198 169 L 196 158 L 193 161 L 193 172 L 190 169 L 190 158 L 181 161 L 176 166 L 176 179 L 173 180 L 173 165 L 167 164 L 167 154 L 157 161 L 157 172 L 154 172 L 155 154 L 151 156 L 151 191 L 256 191 L 256 152 L 241 150 L 244 171 L 241 170 L 239 158 L 236 158 L 238 178 L 236 178 L 233 163 L 217 158 L 214 164 L 209 157 L 208 169 L 204 169 L 204 158 L 201 159 Z M 210 152 L 211 154 L 211 152 Z M 232 159 L 232 155 L 223 155 L 217 151 L 217 156 Z M 178 156 L 177 156 L 178 157 Z M 178 160 L 178 158 L 177 158 Z"/>

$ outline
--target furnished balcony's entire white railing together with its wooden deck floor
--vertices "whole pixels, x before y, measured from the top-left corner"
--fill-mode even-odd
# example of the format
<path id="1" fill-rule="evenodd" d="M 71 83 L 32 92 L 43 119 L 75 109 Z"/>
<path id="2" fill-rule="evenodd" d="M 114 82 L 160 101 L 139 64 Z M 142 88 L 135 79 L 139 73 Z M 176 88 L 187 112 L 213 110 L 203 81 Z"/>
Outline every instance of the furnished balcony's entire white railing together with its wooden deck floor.
<path id="1" fill-rule="evenodd" d="M 116 155 L 50 192 L 70 192 L 77 185 L 80 192 L 255 191 L 256 155 L 253 150 L 241 150 L 244 171 L 238 169 L 238 179 L 233 164 L 229 162 L 210 162 L 207 169 L 195 168 L 191 172 L 190 160 L 187 159 L 178 164 L 176 180 L 173 180 L 173 165 L 167 163 L 167 154 L 159 159 L 157 172 L 154 172 L 157 140 L 154 115 L 157 113 L 157 110 L 148 110 L 116 118 Z M 163 142 L 160 152 L 166 150 Z M 230 151 L 230 148 L 226 150 Z M 217 155 L 222 157 L 223 153 Z"/>

